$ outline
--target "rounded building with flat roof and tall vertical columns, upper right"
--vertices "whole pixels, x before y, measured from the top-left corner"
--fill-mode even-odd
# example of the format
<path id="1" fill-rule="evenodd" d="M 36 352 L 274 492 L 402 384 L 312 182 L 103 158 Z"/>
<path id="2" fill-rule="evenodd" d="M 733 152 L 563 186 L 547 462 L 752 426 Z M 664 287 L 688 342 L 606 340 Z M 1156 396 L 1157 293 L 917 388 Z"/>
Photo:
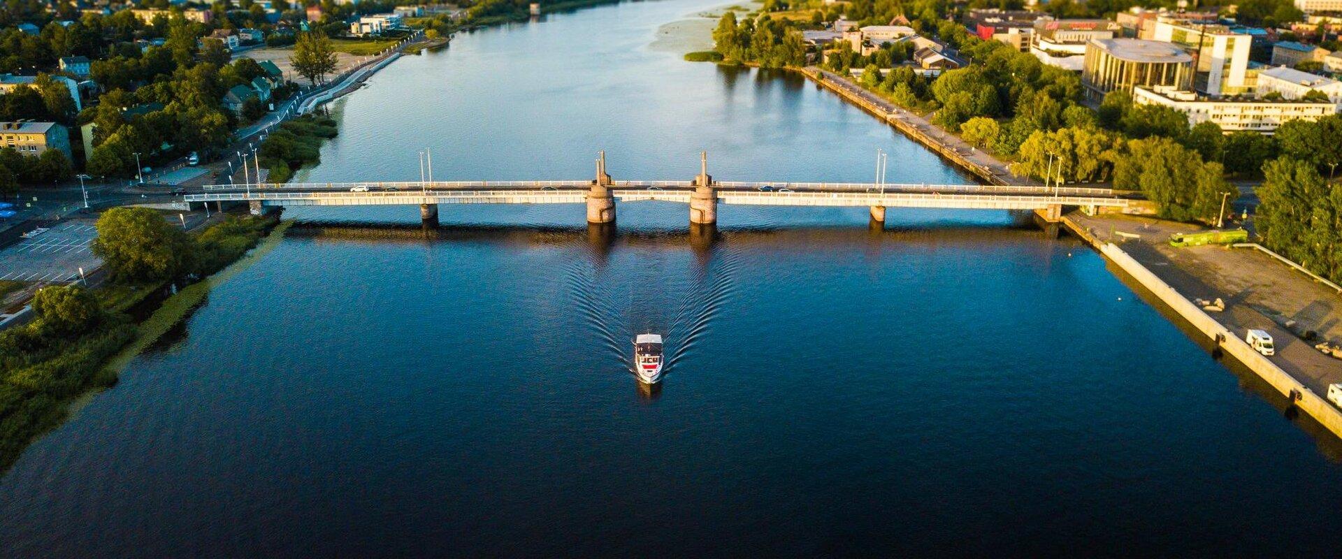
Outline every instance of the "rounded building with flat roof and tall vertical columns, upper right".
<path id="1" fill-rule="evenodd" d="M 1082 86 L 1091 99 L 1135 86 L 1188 88 L 1193 56 L 1182 48 L 1142 39 L 1091 39 L 1082 64 Z"/>

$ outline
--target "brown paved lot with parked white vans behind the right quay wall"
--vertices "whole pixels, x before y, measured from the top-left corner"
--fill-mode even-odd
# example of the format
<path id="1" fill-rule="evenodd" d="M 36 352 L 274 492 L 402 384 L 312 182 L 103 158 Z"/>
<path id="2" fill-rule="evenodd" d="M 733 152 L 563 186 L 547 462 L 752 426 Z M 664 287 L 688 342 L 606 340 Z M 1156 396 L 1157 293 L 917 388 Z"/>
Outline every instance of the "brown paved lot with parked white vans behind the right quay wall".
<path id="1" fill-rule="evenodd" d="M 1342 340 L 1342 295 L 1327 286 L 1252 248 L 1169 245 L 1170 233 L 1198 231 L 1194 225 L 1079 212 L 1070 217 L 1099 240 L 1121 244 L 1184 296 L 1223 299 L 1225 311 L 1208 314 L 1240 336 L 1248 328 L 1267 330 L 1276 342 L 1270 359 L 1317 394 L 1342 382 L 1342 359 L 1294 334 L 1312 330 L 1322 339 Z"/>

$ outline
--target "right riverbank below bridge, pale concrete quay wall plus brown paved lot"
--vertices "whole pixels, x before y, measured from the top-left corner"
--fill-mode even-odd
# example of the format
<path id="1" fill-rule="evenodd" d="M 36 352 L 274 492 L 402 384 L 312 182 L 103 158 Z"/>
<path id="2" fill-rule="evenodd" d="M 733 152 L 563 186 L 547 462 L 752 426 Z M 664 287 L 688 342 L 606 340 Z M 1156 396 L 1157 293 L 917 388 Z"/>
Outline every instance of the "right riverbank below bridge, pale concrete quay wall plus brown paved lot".
<path id="1" fill-rule="evenodd" d="M 1342 382 L 1342 361 L 1299 336 L 1308 331 L 1318 339 L 1342 338 L 1342 296 L 1331 286 L 1252 248 L 1169 247 L 1170 233 L 1197 229 L 1193 225 L 1079 212 L 1063 224 L 1205 336 L 1198 342 L 1240 361 L 1342 437 L 1342 410 L 1323 399 L 1329 385 Z M 1204 311 L 1193 299 L 1221 299 L 1225 310 Z M 1248 328 L 1268 331 L 1275 355 L 1253 351 L 1243 340 Z"/>

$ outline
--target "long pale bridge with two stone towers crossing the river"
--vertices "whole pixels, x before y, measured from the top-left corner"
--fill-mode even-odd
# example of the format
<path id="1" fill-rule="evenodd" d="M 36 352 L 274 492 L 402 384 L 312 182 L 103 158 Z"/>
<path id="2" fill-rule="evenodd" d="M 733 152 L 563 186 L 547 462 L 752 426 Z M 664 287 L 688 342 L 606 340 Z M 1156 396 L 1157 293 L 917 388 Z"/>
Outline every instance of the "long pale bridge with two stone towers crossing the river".
<path id="1" fill-rule="evenodd" d="M 868 206 L 872 220 L 883 223 L 886 208 L 1035 210 L 1045 221 L 1057 221 L 1067 205 L 1126 208 L 1131 201 L 1104 188 L 717 181 L 703 154 L 699 174 L 688 181 L 613 181 L 604 153 L 589 181 L 229 184 L 204 186 L 183 200 L 246 201 L 256 213 L 286 205 L 419 205 L 427 221 L 437 220 L 439 204 L 586 204 L 589 224 L 615 223 L 616 201 L 644 200 L 687 204 L 691 224 L 715 224 L 718 204 Z"/>

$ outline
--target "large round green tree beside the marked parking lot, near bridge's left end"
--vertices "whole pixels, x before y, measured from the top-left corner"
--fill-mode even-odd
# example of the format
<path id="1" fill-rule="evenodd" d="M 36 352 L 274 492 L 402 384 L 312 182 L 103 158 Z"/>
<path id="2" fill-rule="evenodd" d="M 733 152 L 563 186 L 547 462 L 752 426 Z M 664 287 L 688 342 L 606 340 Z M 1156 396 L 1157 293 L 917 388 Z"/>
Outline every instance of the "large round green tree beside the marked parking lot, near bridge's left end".
<path id="1" fill-rule="evenodd" d="M 148 208 L 113 208 L 98 219 L 93 252 L 122 282 L 170 279 L 192 263 L 192 241 L 181 228 Z"/>

